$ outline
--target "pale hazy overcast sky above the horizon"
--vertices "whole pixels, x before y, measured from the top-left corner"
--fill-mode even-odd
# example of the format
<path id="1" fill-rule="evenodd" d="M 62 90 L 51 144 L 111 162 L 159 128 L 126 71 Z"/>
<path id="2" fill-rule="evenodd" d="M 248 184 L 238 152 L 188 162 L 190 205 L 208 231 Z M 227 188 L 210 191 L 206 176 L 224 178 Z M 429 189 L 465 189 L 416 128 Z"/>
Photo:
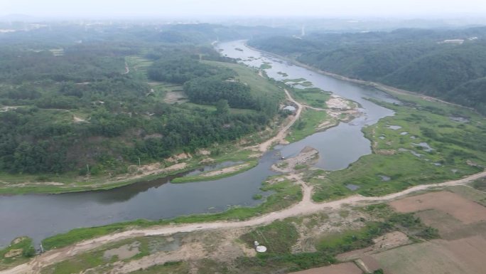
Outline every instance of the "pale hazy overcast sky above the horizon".
<path id="1" fill-rule="evenodd" d="M 0 16 L 425 16 L 485 14 L 486 0 L 0 0 Z"/>

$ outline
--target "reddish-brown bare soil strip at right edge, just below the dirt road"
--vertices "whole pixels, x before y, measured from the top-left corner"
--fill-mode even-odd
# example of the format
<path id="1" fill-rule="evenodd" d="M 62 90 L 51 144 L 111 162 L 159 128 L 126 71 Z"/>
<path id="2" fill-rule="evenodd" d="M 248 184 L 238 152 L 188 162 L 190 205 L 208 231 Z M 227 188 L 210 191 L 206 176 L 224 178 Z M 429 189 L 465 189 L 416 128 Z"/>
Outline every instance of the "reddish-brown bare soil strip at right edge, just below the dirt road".
<path id="1" fill-rule="evenodd" d="M 390 205 L 399 212 L 437 209 L 454 216 L 463 223 L 486 221 L 486 207 L 448 191 L 407 197 L 392 201 Z"/>

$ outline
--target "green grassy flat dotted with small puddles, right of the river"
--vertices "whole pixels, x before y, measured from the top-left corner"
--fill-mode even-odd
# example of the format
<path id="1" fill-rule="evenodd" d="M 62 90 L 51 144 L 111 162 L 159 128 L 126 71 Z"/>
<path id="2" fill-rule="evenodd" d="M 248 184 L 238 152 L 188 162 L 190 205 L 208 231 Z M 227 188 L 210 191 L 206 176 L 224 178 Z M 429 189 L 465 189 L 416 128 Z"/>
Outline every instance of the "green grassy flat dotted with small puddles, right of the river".
<path id="1" fill-rule="evenodd" d="M 325 179 L 311 179 L 316 186 L 315 201 L 353 193 L 345 188 L 347 184 L 360 186 L 356 193 L 382 196 L 410 186 L 460 179 L 482 171 L 486 165 L 486 139 L 480 137 L 486 132 L 483 117 L 473 112 L 463 113 L 465 110 L 458 113 L 455 107 L 433 102 L 409 103 L 380 103 L 396 114 L 363 130 L 373 142 L 374 154 L 361 157 L 347 169 L 330 172 Z M 434 108 L 438 106 L 444 107 Z M 456 115 L 469 117 L 470 122 L 450 119 Z M 391 125 L 401 128 L 393 130 L 389 128 Z M 433 150 L 416 145 L 422 142 Z M 482 167 L 474 167 L 470 162 Z M 390 179 L 384 181 L 381 176 Z"/>

